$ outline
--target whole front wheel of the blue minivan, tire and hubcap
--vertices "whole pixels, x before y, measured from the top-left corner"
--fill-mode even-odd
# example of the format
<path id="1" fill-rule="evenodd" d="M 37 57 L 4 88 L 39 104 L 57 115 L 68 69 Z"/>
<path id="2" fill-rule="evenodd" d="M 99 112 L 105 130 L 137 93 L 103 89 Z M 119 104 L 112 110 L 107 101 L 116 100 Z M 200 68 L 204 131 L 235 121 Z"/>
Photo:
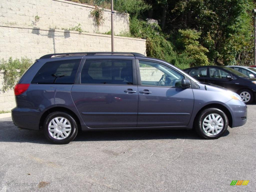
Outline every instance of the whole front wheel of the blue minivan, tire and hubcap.
<path id="1" fill-rule="evenodd" d="M 205 109 L 196 117 L 194 128 L 203 138 L 217 139 L 228 129 L 227 115 L 217 108 Z"/>

